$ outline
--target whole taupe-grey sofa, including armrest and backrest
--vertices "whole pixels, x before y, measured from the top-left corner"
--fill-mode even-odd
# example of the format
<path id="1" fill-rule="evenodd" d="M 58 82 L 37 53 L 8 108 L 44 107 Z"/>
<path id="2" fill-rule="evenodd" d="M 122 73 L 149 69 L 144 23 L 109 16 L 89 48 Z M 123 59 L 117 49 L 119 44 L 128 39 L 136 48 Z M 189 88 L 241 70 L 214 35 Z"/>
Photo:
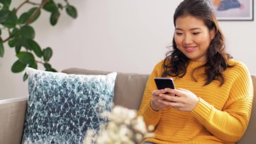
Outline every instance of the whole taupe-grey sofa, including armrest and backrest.
<path id="1" fill-rule="evenodd" d="M 99 75 L 109 72 L 70 68 L 62 71 L 67 74 Z M 256 76 L 251 76 L 256 90 Z M 130 109 L 139 109 L 144 88 L 149 75 L 117 73 L 114 103 Z M 256 144 L 256 91 L 248 128 L 237 144 Z M 0 100 L 0 144 L 20 144 L 23 133 L 27 97 Z"/>

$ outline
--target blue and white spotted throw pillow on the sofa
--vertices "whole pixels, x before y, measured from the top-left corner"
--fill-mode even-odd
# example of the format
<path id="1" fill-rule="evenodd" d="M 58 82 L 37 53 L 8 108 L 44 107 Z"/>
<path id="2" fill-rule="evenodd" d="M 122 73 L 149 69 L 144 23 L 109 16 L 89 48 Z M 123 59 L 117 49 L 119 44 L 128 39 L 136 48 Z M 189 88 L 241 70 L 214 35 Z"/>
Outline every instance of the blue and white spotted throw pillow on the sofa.
<path id="1" fill-rule="evenodd" d="M 22 143 L 80 144 L 110 111 L 117 73 L 67 75 L 26 68 L 29 98 Z"/>

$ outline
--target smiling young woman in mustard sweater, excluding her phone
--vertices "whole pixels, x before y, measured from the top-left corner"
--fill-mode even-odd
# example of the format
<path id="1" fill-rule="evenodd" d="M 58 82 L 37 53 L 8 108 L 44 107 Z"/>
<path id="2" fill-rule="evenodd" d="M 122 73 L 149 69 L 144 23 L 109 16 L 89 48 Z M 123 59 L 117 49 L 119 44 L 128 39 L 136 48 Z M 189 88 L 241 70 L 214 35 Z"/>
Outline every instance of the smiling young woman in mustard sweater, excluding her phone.
<path id="1" fill-rule="evenodd" d="M 248 69 L 226 53 L 208 0 L 184 0 L 173 21 L 173 51 L 155 66 L 138 111 L 147 125 L 155 126 L 155 138 L 144 142 L 239 141 L 251 115 L 253 85 Z M 176 89 L 157 90 L 155 77 L 172 77 Z"/>

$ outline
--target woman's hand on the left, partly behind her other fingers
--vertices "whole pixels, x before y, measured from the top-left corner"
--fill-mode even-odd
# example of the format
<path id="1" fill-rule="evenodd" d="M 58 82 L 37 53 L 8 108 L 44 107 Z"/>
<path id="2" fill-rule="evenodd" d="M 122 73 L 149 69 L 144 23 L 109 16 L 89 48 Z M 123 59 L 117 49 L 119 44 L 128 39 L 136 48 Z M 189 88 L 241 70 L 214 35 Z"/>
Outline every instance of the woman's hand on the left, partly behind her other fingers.
<path id="1" fill-rule="evenodd" d="M 166 91 L 164 90 L 155 90 L 152 91 L 152 97 L 151 97 L 151 101 L 150 101 L 150 107 L 154 110 L 154 111 L 160 111 L 162 109 L 164 109 L 165 107 L 170 107 L 168 105 L 162 104 L 160 102 L 158 102 L 159 99 L 164 99 L 163 97 L 159 96 L 159 94 L 161 93 L 166 93 Z M 168 94 L 169 95 L 169 94 Z M 172 96 L 170 94 L 170 96 Z"/>

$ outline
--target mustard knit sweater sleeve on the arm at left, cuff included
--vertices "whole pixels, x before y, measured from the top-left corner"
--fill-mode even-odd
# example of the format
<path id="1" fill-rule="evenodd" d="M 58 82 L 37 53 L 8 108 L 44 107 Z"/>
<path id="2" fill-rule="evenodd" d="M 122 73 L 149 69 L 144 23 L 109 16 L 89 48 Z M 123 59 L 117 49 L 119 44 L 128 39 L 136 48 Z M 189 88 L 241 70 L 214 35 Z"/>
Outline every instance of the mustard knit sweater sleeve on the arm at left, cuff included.
<path id="1" fill-rule="evenodd" d="M 154 78 L 159 77 L 158 73 L 161 71 L 161 68 L 162 68 L 162 63 L 160 62 L 153 69 L 153 72 L 151 73 L 149 80 L 147 81 L 144 95 L 141 101 L 141 106 L 137 113 L 137 115 L 143 116 L 144 122 L 147 126 L 154 125 L 156 127 L 157 123 L 160 120 L 161 112 L 154 111 L 150 107 L 150 101 L 151 101 L 152 91 L 157 89 Z"/>

